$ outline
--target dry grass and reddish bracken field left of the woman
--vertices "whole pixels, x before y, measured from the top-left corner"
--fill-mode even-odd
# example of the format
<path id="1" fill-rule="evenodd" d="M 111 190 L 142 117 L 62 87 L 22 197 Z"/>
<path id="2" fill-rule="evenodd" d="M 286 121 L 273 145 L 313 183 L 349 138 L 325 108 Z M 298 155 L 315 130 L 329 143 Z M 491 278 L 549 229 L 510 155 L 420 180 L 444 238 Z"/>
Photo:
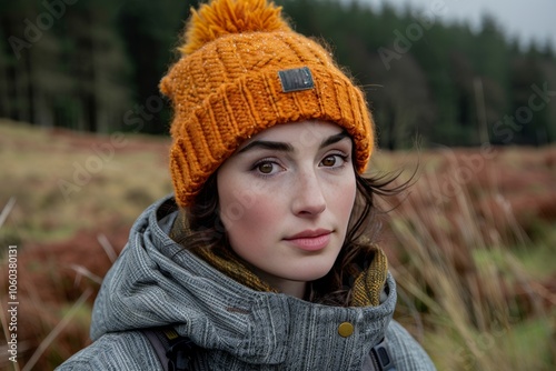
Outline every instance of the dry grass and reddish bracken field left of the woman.
<path id="1" fill-rule="evenodd" d="M 106 137 L 0 122 L 0 210 L 8 200 L 16 202 L 0 227 L 0 244 L 18 245 L 20 302 L 19 362 L 0 358 L 0 369 L 24 370 L 32 362 L 33 370 L 51 370 L 88 344 L 92 301 L 111 258 L 125 245 L 139 213 L 171 191 L 168 141 L 125 139 L 129 141 L 121 144 Z M 76 164 L 89 164 L 95 170 L 90 179 L 73 178 L 82 176 L 76 176 Z M 60 180 L 78 188 L 64 194 Z M 2 305 L 8 302 L 3 251 Z M 2 329 L 7 334 L 4 322 Z M 4 344 L 0 347 L 7 354 Z"/>

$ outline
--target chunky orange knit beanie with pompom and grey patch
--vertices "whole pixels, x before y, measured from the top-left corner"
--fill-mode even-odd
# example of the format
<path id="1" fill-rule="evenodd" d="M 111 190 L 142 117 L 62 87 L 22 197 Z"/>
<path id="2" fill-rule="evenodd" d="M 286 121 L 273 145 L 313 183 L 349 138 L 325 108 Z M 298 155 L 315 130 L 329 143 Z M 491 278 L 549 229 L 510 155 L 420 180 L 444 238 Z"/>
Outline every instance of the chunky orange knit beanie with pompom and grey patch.
<path id="1" fill-rule="evenodd" d="M 192 10 L 181 58 L 160 82 L 173 107 L 170 171 L 180 207 L 242 141 L 278 123 L 339 124 L 365 171 L 374 136 L 363 92 L 280 11 L 266 0 L 212 0 Z"/>

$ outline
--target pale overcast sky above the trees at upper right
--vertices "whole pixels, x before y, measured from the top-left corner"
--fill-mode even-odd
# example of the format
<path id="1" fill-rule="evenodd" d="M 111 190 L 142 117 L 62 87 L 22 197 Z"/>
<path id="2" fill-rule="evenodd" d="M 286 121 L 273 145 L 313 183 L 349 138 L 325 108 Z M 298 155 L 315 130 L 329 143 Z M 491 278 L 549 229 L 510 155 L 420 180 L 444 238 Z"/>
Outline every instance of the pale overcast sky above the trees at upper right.
<path id="1" fill-rule="evenodd" d="M 446 20 L 464 19 L 471 26 L 480 24 L 487 12 L 497 19 L 507 36 L 517 36 L 529 44 L 536 39 L 542 46 L 550 40 L 556 47 L 556 0 L 358 0 L 379 9 L 383 2 L 404 7 L 406 3 L 419 9 L 431 9 L 435 2 L 446 4 Z"/>

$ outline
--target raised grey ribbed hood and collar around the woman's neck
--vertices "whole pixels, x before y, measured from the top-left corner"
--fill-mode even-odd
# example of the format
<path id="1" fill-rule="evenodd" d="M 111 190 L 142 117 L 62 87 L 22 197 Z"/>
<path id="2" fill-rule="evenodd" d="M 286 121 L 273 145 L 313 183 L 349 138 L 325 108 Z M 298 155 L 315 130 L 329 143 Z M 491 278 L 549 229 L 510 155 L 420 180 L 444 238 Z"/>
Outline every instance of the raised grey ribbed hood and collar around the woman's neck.
<path id="1" fill-rule="evenodd" d="M 201 348 L 230 353 L 247 363 L 278 364 L 304 352 L 326 354 L 330 347 L 351 342 L 370 348 L 384 337 L 396 304 L 390 274 L 388 294 L 378 307 L 328 307 L 250 290 L 168 237 L 176 214 L 169 195 L 136 221 L 95 303 L 92 339 L 107 332 L 172 325 Z M 336 339 L 342 322 L 351 323 L 355 332 Z"/>

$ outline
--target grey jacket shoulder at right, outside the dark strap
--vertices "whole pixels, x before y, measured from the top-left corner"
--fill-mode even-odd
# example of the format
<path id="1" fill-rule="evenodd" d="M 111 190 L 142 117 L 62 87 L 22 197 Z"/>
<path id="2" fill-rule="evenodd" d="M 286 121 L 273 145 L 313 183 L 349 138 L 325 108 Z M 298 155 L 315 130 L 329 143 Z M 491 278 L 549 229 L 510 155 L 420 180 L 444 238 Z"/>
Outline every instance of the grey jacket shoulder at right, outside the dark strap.
<path id="1" fill-rule="evenodd" d="M 397 321 L 388 325 L 386 341 L 397 370 L 436 370 L 423 347 Z"/>

